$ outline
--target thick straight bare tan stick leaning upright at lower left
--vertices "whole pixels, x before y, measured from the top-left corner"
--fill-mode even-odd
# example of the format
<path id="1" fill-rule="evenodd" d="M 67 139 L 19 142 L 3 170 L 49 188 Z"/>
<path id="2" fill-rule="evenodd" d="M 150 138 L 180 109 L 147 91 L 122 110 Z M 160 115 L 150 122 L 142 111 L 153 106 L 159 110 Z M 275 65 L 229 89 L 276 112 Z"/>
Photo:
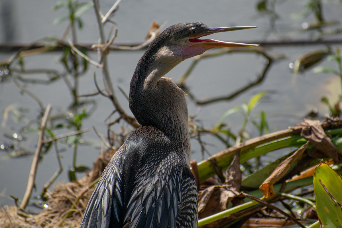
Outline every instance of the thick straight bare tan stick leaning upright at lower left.
<path id="1" fill-rule="evenodd" d="M 41 125 L 40 125 L 37 149 L 36 149 L 33 161 L 32 161 L 31 170 L 30 170 L 30 174 L 29 174 L 29 177 L 28 177 L 28 183 L 27 183 L 26 192 L 25 192 L 23 201 L 20 204 L 20 208 L 23 209 L 23 210 L 25 210 L 25 208 L 26 208 L 26 206 L 28 204 L 28 201 L 30 200 L 31 193 L 32 193 L 32 188 L 35 185 L 35 178 L 36 178 L 36 172 L 37 172 L 37 167 L 38 167 L 38 161 L 39 161 L 40 153 L 41 153 L 41 150 L 42 150 L 42 147 L 43 147 L 43 137 L 44 137 L 45 125 L 46 125 L 46 123 L 48 121 L 50 112 L 51 112 L 51 104 L 48 104 L 48 106 L 47 106 L 47 108 L 45 110 L 45 114 L 43 116 Z"/>

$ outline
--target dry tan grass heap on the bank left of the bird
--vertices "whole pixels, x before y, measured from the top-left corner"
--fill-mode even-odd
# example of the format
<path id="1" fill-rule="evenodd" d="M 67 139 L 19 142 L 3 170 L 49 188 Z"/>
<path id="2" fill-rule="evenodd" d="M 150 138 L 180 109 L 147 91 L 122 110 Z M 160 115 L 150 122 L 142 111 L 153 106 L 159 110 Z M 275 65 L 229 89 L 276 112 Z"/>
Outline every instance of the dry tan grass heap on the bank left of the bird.
<path id="1" fill-rule="evenodd" d="M 107 150 L 94 162 L 93 169 L 78 182 L 58 183 L 48 191 L 48 208 L 38 215 L 20 211 L 16 206 L 5 205 L 0 210 L 2 228 L 79 227 L 84 209 L 94 190 L 92 183 L 101 176 L 115 150 Z"/>

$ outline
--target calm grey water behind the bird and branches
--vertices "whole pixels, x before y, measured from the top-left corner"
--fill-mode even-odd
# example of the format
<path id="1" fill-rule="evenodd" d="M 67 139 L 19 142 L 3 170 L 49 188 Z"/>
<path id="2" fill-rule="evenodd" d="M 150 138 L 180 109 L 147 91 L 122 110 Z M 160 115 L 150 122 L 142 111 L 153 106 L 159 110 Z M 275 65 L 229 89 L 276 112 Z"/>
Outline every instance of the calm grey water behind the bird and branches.
<path id="1" fill-rule="evenodd" d="M 107 12 L 112 1 L 100 1 L 101 10 Z M 29 43 L 42 37 L 58 36 L 62 37 L 67 22 L 60 25 L 53 25 L 55 18 L 66 15 L 67 11 L 62 9 L 51 11 L 51 6 L 55 1 L 27 1 L 27 0 L 3 0 L 1 1 L 7 8 L 2 8 L 3 12 L 9 13 L 6 18 L 1 17 L 2 34 L 1 42 Z M 269 28 L 269 19 L 267 16 L 258 15 L 255 10 L 257 1 L 125 1 L 120 3 L 120 8 L 116 12 L 113 20 L 118 24 L 118 37 L 115 42 L 142 42 L 149 30 L 149 24 L 152 21 L 163 23 L 168 21 L 168 26 L 185 21 L 201 21 L 210 27 L 224 26 L 259 26 L 257 29 L 249 29 L 243 31 L 218 33 L 210 38 L 226 40 L 226 41 L 256 41 L 265 38 L 265 33 Z M 316 36 L 314 32 L 300 32 L 302 23 L 313 22 L 312 15 L 305 19 L 293 19 L 294 12 L 301 12 L 306 1 L 286 1 L 276 5 L 277 13 L 280 19 L 276 22 L 276 31 L 271 33 L 268 40 L 278 39 L 310 39 Z M 341 4 L 329 2 L 324 5 L 324 13 L 327 21 L 338 19 L 342 9 Z M 7 9 L 7 10 L 6 10 Z M 7 15 L 7 14 L 6 14 Z M 83 29 L 78 32 L 78 42 L 80 43 L 97 43 L 98 30 L 93 10 L 89 10 L 83 16 Z M 10 28 L 7 27 L 11 24 Z M 110 26 L 106 26 L 106 35 L 108 35 Z M 10 37 L 10 38 L 9 38 Z M 340 38 L 340 35 L 331 38 Z M 336 100 L 337 94 L 340 93 L 339 81 L 331 75 L 313 74 L 307 71 L 305 75 L 293 75 L 288 67 L 290 62 L 301 56 L 303 53 L 324 49 L 323 45 L 317 46 L 290 46 L 275 47 L 267 49 L 269 54 L 282 53 L 286 56 L 273 64 L 269 70 L 265 81 L 239 95 L 229 102 L 218 102 L 212 105 L 203 106 L 197 119 L 203 121 L 203 125 L 207 128 L 214 126 L 222 114 L 236 105 L 247 102 L 253 95 L 268 91 L 268 95 L 262 99 L 261 104 L 252 112 L 252 116 L 259 115 L 261 110 L 267 112 L 267 121 L 271 131 L 283 130 L 288 126 L 293 126 L 303 120 L 303 116 L 313 108 L 319 110 L 319 114 L 324 116 L 328 110 L 320 103 L 322 96 L 329 96 L 332 100 Z M 110 63 L 109 72 L 111 80 L 114 84 L 115 93 L 123 109 L 132 116 L 129 110 L 128 102 L 122 93 L 117 89 L 120 86 L 126 94 L 129 93 L 129 82 L 133 75 L 137 61 L 140 59 L 144 51 L 134 52 L 111 52 L 108 56 Z M 0 53 L 0 59 L 9 58 L 11 54 Z M 26 69 L 55 69 L 60 72 L 63 67 L 58 63 L 61 53 L 45 53 L 24 58 Z M 92 59 L 97 59 L 96 53 L 90 53 Z M 188 59 L 176 66 L 167 77 L 177 81 L 187 67 L 192 62 Z M 325 62 L 322 65 L 337 68 L 332 62 Z M 250 81 L 256 80 L 257 76 L 264 68 L 264 58 L 252 53 L 235 53 L 226 54 L 220 57 L 202 60 L 189 76 L 186 85 L 197 99 L 206 99 L 216 96 L 230 94 Z M 101 88 L 101 71 L 90 66 L 86 75 L 79 80 L 79 94 L 89 94 L 96 92 L 93 82 L 93 72 L 96 72 L 97 81 Z M 44 74 L 25 75 L 25 78 L 46 79 Z M 20 82 L 21 83 L 21 82 Z M 21 83 L 23 84 L 23 83 Z M 27 84 L 26 89 L 34 93 L 41 99 L 46 107 L 52 104 L 53 110 L 51 115 L 57 115 L 67 111 L 67 106 L 72 102 L 71 95 L 65 82 L 60 79 L 50 85 Z M 332 97 L 335 97 L 334 99 Z M 106 135 L 104 120 L 113 110 L 111 102 L 104 97 L 89 97 L 88 100 L 95 100 L 97 108 L 90 118 L 83 121 L 82 128 L 95 128 L 103 135 Z M 39 106 L 37 102 L 27 94 L 22 95 L 13 83 L 12 79 L 8 82 L 0 84 L 0 111 L 3 113 L 6 107 L 16 105 L 17 110 L 24 109 L 22 112 L 28 120 L 35 120 Z M 195 115 L 198 111 L 197 106 L 188 97 L 188 108 L 191 115 Z M 0 128 L 0 144 L 15 142 L 6 138 L 4 134 L 13 135 L 25 125 L 24 120 L 16 123 L 13 120 L 14 114 L 10 112 L 6 126 Z M 0 114 L 2 120 L 3 114 Z M 114 120 L 115 117 L 111 118 Z M 225 123 L 229 124 L 234 133 L 237 133 L 242 124 L 242 116 L 234 113 L 229 116 Z M 114 128 L 118 133 L 120 126 L 128 131 L 132 128 L 126 123 L 120 124 Z M 56 131 L 55 134 L 69 132 L 71 130 Z M 252 124 L 248 124 L 247 131 L 251 137 L 258 136 L 258 131 Z M 25 134 L 26 140 L 17 143 L 17 147 L 26 150 L 35 151 L 37 144 L 37 133 L 33 132 Z M 92 162 L 100 153 L 101 140 L 96 136 L 94 131 L 83 134 L 86 142 L 91 142 L 92 146 L 80 146 L 77 157 L 77 164 L 92 166 Z M 207 149 L 211 154 L 215 154 L 224 149 L 224 145 L 211 136 L 205 136 L 202 140 L 208 142 Z M 72 166 L 73 148 L 69 148 L 66 144 L 60 144 L 59 149 L 64 150 L 62 164 L 64 171 L 57 178 L 57 182 L 67 181 L 67 170 Z M 192 158 L 201 160 L 200 147 L 198 143 L 192 141 Z M 282 152 L 284 153 L 284 151 Z M 274 160 L 280 153 L 270 153 L 265 156 L 264 160 Z M 26 189 L 28 173 L 32 162 L 32 156 L 10 158 L 6 152 L 0 151 L 0 202 L 2 204 L 13 205 L 14 200 L 9 196 L 13 195 L 22 199 Z M 36 188 L 32 196 L 37 196 L 45 182 L 58 169 L 58 163 L 54 149 L 51 149 L 47 155 L 44 155 L 39 163 Z M 78 178 L 83 174 L 79 174 Z"/>

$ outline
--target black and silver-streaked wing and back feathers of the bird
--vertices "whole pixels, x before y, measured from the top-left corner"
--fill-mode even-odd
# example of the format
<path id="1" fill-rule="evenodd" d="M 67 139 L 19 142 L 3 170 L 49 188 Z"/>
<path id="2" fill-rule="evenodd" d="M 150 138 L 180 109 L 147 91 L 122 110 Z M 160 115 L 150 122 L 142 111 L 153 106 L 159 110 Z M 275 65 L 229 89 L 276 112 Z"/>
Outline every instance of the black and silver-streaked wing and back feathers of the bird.
<path id="1" fill-rule="evenodd" d="M 196 228 L 197 188 L 188 165 L 165 137 L 153 137 L 159 141 L 152 146 L 129 138 L 104 170 L 80 228 Z"/>

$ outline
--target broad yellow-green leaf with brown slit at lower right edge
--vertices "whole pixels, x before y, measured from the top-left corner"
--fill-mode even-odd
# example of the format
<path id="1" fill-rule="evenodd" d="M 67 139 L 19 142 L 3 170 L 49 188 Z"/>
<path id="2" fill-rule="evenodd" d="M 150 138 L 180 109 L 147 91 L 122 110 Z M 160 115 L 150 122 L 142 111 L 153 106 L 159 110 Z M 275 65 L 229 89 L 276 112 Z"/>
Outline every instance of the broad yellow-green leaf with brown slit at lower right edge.
<path id="1" fill-rule="evenodd" d="M 315 169 L 314 191 L 321 227 L 342 227 L 342 176 L 323 161 Z"/>

